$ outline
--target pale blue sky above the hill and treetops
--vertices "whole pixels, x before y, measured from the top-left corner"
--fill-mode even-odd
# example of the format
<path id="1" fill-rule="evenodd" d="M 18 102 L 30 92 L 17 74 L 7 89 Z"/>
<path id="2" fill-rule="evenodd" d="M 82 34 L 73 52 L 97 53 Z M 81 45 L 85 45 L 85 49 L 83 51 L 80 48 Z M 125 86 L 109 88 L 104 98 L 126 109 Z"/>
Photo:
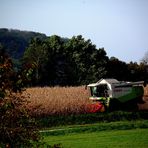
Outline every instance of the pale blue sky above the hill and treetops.
<path id="1" fill-rule="evenodd" d="M 148 0 L 0 0 L 0 28 L 82 35 L 109 57 L 139 62 L 148 51 Z"/>

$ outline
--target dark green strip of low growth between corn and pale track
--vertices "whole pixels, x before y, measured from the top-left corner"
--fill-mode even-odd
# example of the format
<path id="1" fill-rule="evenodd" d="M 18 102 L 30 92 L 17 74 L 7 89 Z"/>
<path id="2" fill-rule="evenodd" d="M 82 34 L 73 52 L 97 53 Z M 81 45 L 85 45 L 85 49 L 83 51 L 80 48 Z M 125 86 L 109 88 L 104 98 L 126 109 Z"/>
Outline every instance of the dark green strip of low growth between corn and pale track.
<path id="1" fill-rule="evenodd" d="M 80 114 L 69 116 L 50 116 L 36 118 L 40 127 L 52 127 L 62 125 L 74 125 L 74 124 L 93 124 L 96 122 L 114 122 L 114 121 L 132 121 L 148 119 L 148 112 L 105 112 L 105 113 L 92 113 L 92 114 Z"/>

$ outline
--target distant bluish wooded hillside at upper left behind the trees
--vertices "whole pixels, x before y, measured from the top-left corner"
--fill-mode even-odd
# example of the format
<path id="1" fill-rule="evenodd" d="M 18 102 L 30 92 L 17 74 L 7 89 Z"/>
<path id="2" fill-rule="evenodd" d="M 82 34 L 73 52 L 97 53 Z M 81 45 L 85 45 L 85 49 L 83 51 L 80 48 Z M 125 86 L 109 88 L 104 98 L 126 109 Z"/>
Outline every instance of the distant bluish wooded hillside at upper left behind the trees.
<path id="1" fill-rule="evenodd" d="M 46 38 L 45 34 L 32 31 L 20 31 L 0 28 L 0 44 L 13 59 L 20 59 L 32 38 Z"/>

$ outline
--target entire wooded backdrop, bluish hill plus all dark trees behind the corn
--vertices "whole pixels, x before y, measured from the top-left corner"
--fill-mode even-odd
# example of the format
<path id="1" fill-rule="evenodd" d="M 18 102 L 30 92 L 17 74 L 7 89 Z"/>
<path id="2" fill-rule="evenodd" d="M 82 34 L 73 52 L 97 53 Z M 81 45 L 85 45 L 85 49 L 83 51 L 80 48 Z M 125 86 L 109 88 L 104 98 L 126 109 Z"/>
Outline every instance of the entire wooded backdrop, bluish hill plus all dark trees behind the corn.
<path id="1" fill-rule="evenodd" d="M 0 29 L 0 51 L 11 57 L 24 86 L 78 86 L 100 78 L 147 81 L 148 66 L 109 58 L 82 35 L 62 38 L 41 33 Z"/>

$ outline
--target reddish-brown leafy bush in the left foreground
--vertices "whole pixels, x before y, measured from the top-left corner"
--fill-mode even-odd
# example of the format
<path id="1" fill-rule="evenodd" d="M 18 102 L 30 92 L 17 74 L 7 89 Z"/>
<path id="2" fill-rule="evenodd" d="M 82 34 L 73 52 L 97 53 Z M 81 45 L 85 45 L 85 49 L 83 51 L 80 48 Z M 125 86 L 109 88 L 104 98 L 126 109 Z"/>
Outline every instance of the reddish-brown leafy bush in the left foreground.
<path id="1" fill-rule="evenodd" d="M 21 79 L 0 46 L 0 147 L 31 147 L 40 136 L 21 95 Z"/>

